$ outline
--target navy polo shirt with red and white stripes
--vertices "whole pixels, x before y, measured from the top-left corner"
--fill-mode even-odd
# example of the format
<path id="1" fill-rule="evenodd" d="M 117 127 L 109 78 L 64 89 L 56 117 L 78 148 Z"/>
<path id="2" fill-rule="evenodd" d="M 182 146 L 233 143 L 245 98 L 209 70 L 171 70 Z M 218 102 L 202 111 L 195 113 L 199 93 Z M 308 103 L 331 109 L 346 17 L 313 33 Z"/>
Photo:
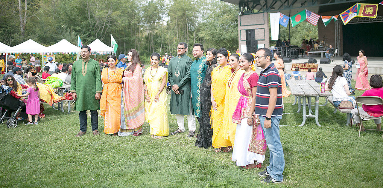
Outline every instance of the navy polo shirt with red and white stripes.
<path id="1" fill-rule="evenodd" d="M 257 94 L 255 96 L 255 115 L 266 116 L 268 100 L 270 99 L 269 88 L 278 88 L 277 103 L 272 116 L 282 116 L 282 81 L 279 71 L 274 67 L 274 63 L 271 63 L 259 74 Z"/>

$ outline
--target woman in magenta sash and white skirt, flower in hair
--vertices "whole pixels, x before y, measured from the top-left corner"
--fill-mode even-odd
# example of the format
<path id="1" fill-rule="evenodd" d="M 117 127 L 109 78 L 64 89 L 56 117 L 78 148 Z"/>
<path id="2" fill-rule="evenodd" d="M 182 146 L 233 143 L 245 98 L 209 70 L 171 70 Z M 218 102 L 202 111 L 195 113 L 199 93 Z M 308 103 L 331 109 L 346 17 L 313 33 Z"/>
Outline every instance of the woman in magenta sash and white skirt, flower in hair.
<path id="1" fill-rule="evenodd" d="M 255 72 L 254 56 L 244 53 L 239 57 L 239 66 L 245 70 L 238 82 L 241 93 L 233 123 L 237 123 L 234 149 L 231 160 L 244 169 L 261 168 L 265 159 L 266 140 L 258 116 L 254 116 L 255 93 L 259 76 Z"/>

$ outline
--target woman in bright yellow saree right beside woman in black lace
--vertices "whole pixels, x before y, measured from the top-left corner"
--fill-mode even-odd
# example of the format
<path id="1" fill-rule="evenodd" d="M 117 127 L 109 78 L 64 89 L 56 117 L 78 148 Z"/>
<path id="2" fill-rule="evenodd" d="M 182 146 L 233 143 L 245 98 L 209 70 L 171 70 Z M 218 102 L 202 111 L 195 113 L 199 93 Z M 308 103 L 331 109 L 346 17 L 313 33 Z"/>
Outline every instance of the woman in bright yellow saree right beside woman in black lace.
<path id="1" fill-rule="evenodd" d="M 221 152 L 223 147 L 231 146 L 228 139 L 224 139 L 224 130 L 226 125 L 224 122 L 225 110 L 225 88 L 231 76 L 231 67 L 228 66 L 229 53 L 226 49 L 221 48 L 217 52 L 216 66 L 211 72 L 211 110 L 210 120 L 213 127 L 212 146 L 217 149 L 215 152 Z"/>

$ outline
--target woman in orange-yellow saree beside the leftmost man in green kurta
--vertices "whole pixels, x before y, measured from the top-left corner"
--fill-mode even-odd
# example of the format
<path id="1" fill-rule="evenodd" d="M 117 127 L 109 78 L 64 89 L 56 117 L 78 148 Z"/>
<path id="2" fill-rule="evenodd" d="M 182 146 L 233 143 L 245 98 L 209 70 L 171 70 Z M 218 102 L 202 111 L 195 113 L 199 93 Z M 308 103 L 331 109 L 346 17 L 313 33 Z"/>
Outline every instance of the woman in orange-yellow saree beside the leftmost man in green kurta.
<path id="1" fill-rule="evenodd" d="M 109 68 L 103 68 L 101 80 L 104 83 L 100 99 L 100 111 L 104 117 L 104 133 L 117 135 L 121 121 L 121 87 L 124 70 L 116 67 L 117 57 L 109 55 L 106 61 Z"/>

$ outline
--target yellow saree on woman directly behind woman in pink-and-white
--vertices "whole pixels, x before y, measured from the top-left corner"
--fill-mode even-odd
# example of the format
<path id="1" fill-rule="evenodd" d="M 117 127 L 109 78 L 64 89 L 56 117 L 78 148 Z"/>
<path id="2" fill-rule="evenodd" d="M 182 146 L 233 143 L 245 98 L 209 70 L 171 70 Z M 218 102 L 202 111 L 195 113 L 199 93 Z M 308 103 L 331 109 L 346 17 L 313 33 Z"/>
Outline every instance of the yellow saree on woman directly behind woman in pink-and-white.
<path id="1" fill-rule="evenodd" d="M 238 69 L 231 74 L 228 83 L 226 84 L 225 110 L 224 110 L 224 134 L 223 138 L 231 142 L 234 146 L 234 138 L 236 136 L 237 123 L 233 123 L 233 113 L 236 110 L 241 93 L 238 91 L 238 81 L 245 70 Z"/>

